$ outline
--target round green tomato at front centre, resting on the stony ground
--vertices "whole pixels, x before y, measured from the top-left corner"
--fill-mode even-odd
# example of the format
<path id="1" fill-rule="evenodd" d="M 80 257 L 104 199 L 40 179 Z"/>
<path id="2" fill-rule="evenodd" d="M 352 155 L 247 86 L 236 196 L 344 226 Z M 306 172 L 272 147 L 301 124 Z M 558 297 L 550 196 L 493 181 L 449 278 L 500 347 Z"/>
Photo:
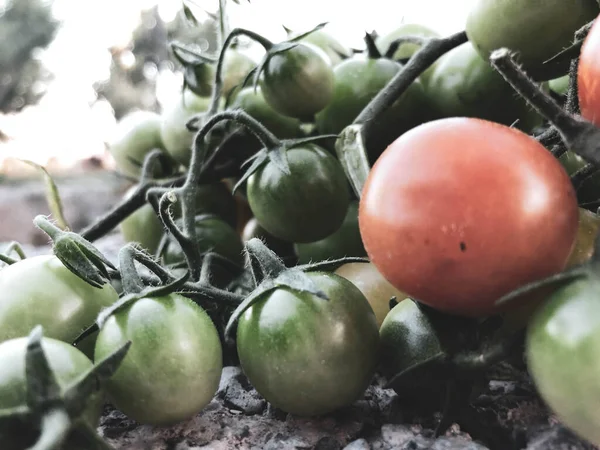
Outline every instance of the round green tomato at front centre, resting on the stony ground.
<path id="1" fill-rule="evenodd" d="M 377 364 L 373 310 L 344 278 L 308 274 L 329 300 L 278 288 L 240 318 L 237 349 L 250 383 L 291 414 L 326 414 L 357 400 Z"/>

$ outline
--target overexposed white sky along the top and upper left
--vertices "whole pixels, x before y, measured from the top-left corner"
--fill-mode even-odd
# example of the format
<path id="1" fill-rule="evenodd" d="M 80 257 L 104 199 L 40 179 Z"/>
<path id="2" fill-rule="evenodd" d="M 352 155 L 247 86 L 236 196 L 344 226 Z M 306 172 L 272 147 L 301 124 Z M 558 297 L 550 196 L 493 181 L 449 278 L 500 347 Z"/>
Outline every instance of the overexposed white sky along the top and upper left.
<path id="1" fill-rule="evenodd" d="M 362 47 L 365 31 L 385 34 L 400 23 L 417 22 L 442 35 L 464 28 L 475 0 L 241 0 L 229 2 L 230 25 L 255 30 L 272 40 L 285 37 L 281 25 L 310 29 L 329 22 L 327 30 L 348 46 Z M 0 0 L 0 7 L 6 0 Z M 115 120 L 110 106 L 95 100 L 92 84 L 108 77 L 108 48 L 125 45 L 139 20 L 139 12 L 158 4 L 171 19 L 180 0 L 55 0 L 55 15 L 63 26 L 43 54 L 55 81 L 39 105 L 17 115 L 0 115 L 0 130 L 10 142 L 0 144 L 0 171 L 6 158 L 18 157 L 46 164 L 56 158 L 71 165 L 76 160 L 105 154 L 105 142 Z M 196 0 L 215 12 L 218 0 Z M 353 5 L 353 6 L 348 6 Z M 161 100 L 177 89 L 173 78 L 163 83 Z M 179 82 L 179 78 L 176 79 Z"/>

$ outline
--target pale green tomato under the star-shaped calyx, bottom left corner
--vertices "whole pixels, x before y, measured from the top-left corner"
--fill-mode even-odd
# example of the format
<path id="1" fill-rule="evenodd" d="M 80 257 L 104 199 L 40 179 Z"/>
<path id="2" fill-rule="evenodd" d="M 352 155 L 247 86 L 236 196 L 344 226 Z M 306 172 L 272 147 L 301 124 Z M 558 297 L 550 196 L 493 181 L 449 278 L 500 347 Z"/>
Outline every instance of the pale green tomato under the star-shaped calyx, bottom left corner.
<path id="1" fill-rule="evenodd" d="M 27 404 L 27 384 L 25 375 L 25 355 L 28 338 L 10 339 L 0 344 L 0 409 L 11 409 Z M 42 338 L 42 348 L 48 364 L 61 389 L 67 389 L 84 373 L 92 368 L 92 362 L 72 345 L 51 339 Z M 96 428 L 102 412 L 103 396 L 94 393 L 90 396 L 83 419 Z M 2 430 L 2 450 L 22 450 L 30 448 L 36 436 L 31 427 L 13 427 Z M 81 442 L 73 436 L 67 437 L 64 449 L 77 448 L 85 450 Z"/>

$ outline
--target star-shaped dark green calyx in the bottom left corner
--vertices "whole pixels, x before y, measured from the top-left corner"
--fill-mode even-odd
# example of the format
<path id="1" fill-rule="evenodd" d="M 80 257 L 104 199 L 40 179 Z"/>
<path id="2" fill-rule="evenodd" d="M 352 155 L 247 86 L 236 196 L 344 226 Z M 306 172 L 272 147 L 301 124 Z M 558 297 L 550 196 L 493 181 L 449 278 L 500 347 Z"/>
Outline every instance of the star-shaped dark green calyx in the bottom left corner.
<path id="1" fill-rule="evenodd" d="M 42 348 L 43 330 L 35 327 L 29 334 L 25 354 L 26 405 L 11 409 L 0 409 L 0 429 L 18 424 L 32 424 L 39 430 L 35 449 L 59 447 L 70 433 L 84 436 L 89 442 L 98 443 L 100 448 L 106 443 L 85 420 L 81 420 L 90 395 L 101 389 L 119 368 L 125 358 L 131 341 L 97 362 L 64 392 L 58 385 Z"/>

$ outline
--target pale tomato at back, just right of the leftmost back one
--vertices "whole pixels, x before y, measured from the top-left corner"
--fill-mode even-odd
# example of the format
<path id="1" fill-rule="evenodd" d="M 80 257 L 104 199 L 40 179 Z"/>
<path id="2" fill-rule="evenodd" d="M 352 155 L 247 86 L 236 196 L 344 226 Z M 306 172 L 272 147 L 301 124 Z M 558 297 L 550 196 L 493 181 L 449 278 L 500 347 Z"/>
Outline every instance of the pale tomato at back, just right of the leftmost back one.
<path id="1" fill-rule="evenodd" d="M 205 112 L 210 97 L 200 97 L 186 89 L 177 101 L 162 114 L 160 135 L 165 149 L 179 164 L 189 165 L 194 133 L 185 124 L 195 115 Z"/>

